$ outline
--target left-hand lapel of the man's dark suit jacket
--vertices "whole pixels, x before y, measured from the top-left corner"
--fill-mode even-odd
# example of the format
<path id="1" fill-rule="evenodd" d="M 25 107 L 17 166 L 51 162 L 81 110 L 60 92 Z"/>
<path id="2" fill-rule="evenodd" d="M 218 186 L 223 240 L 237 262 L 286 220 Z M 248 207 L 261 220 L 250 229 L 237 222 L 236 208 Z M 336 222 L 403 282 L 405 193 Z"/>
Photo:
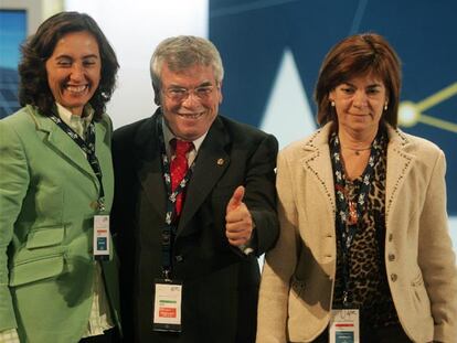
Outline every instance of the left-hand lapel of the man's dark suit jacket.
<path id="1" fill-rule="evenodd" d="M 161 147 L 157 139 L 158 111 L 139 128 L 135 138 L 137 176 L 149 202 L 159 213 L 167 211 L 167 190 L 163 181 Z M 155 138 L 155 139 L 152 139 Z"/>

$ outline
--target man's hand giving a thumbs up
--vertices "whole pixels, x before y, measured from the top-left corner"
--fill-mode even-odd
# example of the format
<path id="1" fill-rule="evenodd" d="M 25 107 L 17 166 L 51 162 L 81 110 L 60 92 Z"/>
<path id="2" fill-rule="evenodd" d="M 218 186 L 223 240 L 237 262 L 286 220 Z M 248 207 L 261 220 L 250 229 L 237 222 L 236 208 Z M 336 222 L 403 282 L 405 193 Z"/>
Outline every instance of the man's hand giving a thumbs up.
<path id="1" fill-rule="evenodd" d="M 236 247 L 246 246 L 253 233 L 253 219 L 243 203 L 244 186 L 238 186 L 228 201 L 225 213 L 225 236 Z"/>

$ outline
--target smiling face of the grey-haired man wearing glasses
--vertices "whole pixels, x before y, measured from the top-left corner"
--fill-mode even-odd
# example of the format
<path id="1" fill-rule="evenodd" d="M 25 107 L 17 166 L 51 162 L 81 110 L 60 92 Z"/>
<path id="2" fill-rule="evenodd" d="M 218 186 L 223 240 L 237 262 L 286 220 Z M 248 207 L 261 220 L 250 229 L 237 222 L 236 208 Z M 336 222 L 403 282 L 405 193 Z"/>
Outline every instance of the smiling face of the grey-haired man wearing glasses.
<path id="1" fill-rule="evenodd" d="M 183 140 L 203 136 L 217 116 L 222 101 L 221 85 L 212 66 L 193 65 L 184 71 L 170 71 L 163 63 L 161 105 L 171 131 Z"/>

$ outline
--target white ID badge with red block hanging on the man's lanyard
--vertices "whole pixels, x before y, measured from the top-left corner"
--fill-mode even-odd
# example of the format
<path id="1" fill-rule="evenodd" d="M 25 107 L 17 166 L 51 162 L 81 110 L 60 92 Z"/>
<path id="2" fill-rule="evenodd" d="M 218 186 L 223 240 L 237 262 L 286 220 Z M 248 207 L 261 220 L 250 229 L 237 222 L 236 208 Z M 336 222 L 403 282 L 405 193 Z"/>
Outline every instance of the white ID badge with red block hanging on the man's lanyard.
<path id="1" fill-rule="evenodd" d="M 153 330 L 181 332 L 182 283 L 174 280 L 158 279 L 155 287 Z"/>

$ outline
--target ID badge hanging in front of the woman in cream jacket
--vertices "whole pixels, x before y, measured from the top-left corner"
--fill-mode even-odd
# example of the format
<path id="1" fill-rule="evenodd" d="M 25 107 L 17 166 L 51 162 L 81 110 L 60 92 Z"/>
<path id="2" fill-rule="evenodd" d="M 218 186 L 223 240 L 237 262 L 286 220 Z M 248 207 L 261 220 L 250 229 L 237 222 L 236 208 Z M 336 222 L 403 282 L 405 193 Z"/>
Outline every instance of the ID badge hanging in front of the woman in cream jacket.
<path id="1" fill-rule="evenodd" d="M 331 310 L 329 325 L 330 343 L 360 343 L 359 310 Z"/>

